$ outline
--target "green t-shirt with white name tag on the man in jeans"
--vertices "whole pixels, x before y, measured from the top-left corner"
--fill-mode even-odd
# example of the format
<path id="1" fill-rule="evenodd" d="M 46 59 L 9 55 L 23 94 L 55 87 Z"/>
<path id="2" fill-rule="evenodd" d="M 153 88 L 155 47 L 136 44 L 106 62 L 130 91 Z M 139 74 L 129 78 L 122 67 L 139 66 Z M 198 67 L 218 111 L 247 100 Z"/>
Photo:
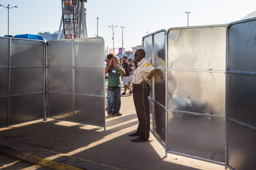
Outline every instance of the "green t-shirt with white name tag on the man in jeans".
<path id="1" fill-rule="evenodd" d="M 121 69 L 123 69 L 121 65 L 118 65 L 118 66 L 121 67 Z M 108 73 L 107 86 L 114 86 L 114 87 L 121 86 L 121 73 L 119 69 L 111 65 L 107 73 Z"/>

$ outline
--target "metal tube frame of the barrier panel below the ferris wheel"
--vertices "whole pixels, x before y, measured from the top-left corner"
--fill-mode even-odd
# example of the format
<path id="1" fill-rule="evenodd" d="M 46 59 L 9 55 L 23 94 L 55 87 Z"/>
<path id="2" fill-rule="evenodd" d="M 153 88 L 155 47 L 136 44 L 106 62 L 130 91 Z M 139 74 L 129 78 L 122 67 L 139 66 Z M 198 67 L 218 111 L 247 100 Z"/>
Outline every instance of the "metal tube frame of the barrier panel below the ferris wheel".
<path id="1" fill-rule="evenodd" d="M 84 41 L 87 41 L 87 40 L 92 40 L 92 41 L 97 41 L 97 40 L 102 40 L 103 41 L 103 46 L 102 46 L 102 63 L 101 63 L 101 66 L 86 66 L 86 65 L 78 65 L 78 64 L 75 64 L 75 58 L 77 58 L 78 59 L 78 56 L 76 56 L 77 55 L 77 51 L 75 50 L 75 48 L 76 49 L 78 49 L 78 47 L 75 47 L 75 43 L 76 44 L 78 44 L 79 43 L 79 41 L 82 41 L 83 43 L 86 43 L 86 42 L 84 42 Z M 70 61 L 72 62 L 72 63 L 70 63 L 70 64 L 66 64 L 66 63 L 63 63 L 63 65 L 50 65 L 50 62 L 48 61 L 49 59 L 47 59 L 47 63 L 46 63 L 46 72 L 47 72 L 47 86 L 46 86 L 46 93 L 47 93 L 47 96 L 46 96 L 46 104 L 47 104 L 47 110 L 48 110 L 48 112 L 47 112 L 47 117 L 49 117 L 49 118 L 52 118 L 52 119 L 58 119 L 58 120 L 64 120 L 64 121 L 70 121 L 70 122 L 75 122 L 75 123 L 83 123 L 83 124 L 89 124 L 89 125 L 94 125 L 94 126 L 99 126 L 99 127 L 104 127 L 104 130 L 105 130 L 105 87 L 104 86 L 102 86 L 102 89 L 101 88 L 99 88 L 99 89 L 101 89 L 102 90 L 102 95 L 94 95 L 94 94 L 82 94 L 82 93 L 77 93 L 77 92 L 75 92 L 75 80 L 77 80 L 76 79 L 76 77 L 75 77 L 75 69 L 86 69 L 86 68 L 91 68 L 91 69 L 93 69 L 93 68 L 102 68 L 102 72 L 104 72 L 104 62 L 105 62 L 105 59 L 104 59 L 104 39 L 102 38 L 102 37 L 93 37 L 93 38 L 76 38 L 76 39 L 71 39 L 71 40 L 69 40 L 69 39 L 65 39 L 65 40 L 55 40 L 55 41 L 47 41 L 47 58 L 49 58 L 49 48 L 50 48 L 50 46 L 51 45 L 49 45 L 49 44 L 51 44 L 51 43 L 68 43 L 68 42 L 71 42 L 71 44 L 72 44 L 72 47 L 70 48 L 69 47 L 69 45 L 67 45 L 66 47 L 65 47 L 65 45 L 63 45 L 63 49 L 65 49 L 65 48 L 70 48 L 71 50 L 72 50 L 72 56 L 65 56 L 65 59 L 70 59 Z M 80 45 L 81 45 L 81 43 L 80 43 Z M 80 47 L 81 48 L 81 47 Z M 82 49 L 82 48 L 81 48 Z M 92 49 L 92 48 L 91 48 Z M 55 50 L 55 49 L 54 49 Z M 61 50 L 61 49 L 59 49 L 59 50 Z M 99 50 L 100 51 L 100 50 Z M 96 55 L 96 54 L 94 54 L 94 55 Z M 57 56 L 58 57 L 58 56 Z M 93 56 L 89 56 L 89 57 L 93 57 Z M 97 55 L 96 57 L 99 57 L 100 58 L 100 54 L 99 55 Z M 59 59 L 60 59 L 60 57 L 58 57 Z M 64 61 L 65 62 L 65 61 Z M 49 90 L 49 68 L 65 68 L 65 69 L 72 69 L 72 92 L 63 92 L 63 91 L 51 91 L 51 90 Z M 64 72 L 64 74 L 65 74 L 65 72 Z M 68 75 L 69 76 L 69 75 Z M 104 85 L 104 83 L 105 83 L 105 78 L 104 78 L 104 75 L 102 75 L 101 76 L 102 77 L 102 82 L 103 82 L 103 84 L 102 85 Z M 94 77 L 94 79 L 96 79 L 96 77 Z M 85 86 L 86 86 L 86 84 L 85 84 Z M 93 89 L 95 89 L 94 88 L 94 86 L 91 86 L 91 88 L 93 88 Z M 55 94 L 55 95 L 72 95 L 72 120 L 71 119 L 69 119 L 69 118 L 67 118 L 67 116 L 61 116 L 61 115 L 59 115 L 59 116 L 51 116 L 51 115 L 49 115 L 49 94 Z M 83 122 L 83 121 L 76 121 L 75 120 L 75 118 L 76 118 L 76 113 L 75 112 L 77 112 L 77 111 L 79 111 L 79 110 L 76 110 L 75 111 L 75 97 L 82 97 L 82 96 L 88 96 L 88 97 L 96 97 L 96 98 L 102 98 L 103 100 L 104 100 L 104 106 L 102 106 L 102 107 L 96 107 L 97 109 L 101 109 L 102 110 L 102 117 L 104 118 L 104 123 L 102 123 L 102 124 L 96 124 L 96 123 L 87 123 L 87 122 Z M 64 99 L 64 101 L 65 101 L 65 99 Z M 61 114 L 61 113 L 60 113 Z M 64 114 L 63 114 L 64 115 Z M 61 117 L 61 118 L 60 118 Z M 88 117 L 88 115 L 87 115 L 87 117 Z"/>

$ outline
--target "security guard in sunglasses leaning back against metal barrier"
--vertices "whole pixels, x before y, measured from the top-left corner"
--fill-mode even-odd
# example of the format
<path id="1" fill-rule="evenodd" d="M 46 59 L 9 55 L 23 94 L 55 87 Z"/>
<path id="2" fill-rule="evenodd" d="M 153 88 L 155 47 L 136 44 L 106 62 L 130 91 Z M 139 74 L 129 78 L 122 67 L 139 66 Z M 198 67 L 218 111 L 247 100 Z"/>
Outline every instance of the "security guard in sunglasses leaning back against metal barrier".
<path id="1" fill-rule="evenodd" d="M 132 142 L 146 142 L 149 139 L 150 115 L 149 115 L 149 99 L 150 79 L 157 72 L 156 69 L 145 58 L 146 53 L 143 49 L 138 49 L 134 54 L 134 61 L 138 61 L 138 67 L 134 71 L 132 78 L 133 101 L 139 120 L 137 131 L 129 134 L 129 136 L 139 136 L 132 139 Z"/>

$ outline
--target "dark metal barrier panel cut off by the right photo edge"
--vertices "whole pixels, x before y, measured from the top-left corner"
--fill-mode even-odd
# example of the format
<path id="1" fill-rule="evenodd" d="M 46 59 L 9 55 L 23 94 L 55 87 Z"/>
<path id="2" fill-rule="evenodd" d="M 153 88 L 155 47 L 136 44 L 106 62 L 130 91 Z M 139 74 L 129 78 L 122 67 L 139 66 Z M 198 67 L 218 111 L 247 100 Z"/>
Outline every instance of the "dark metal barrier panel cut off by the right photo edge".
<path id="1" fill-rule="evenodd" d="M 256 18 L 227 28 L 226 166 L 256 167 Z"/>

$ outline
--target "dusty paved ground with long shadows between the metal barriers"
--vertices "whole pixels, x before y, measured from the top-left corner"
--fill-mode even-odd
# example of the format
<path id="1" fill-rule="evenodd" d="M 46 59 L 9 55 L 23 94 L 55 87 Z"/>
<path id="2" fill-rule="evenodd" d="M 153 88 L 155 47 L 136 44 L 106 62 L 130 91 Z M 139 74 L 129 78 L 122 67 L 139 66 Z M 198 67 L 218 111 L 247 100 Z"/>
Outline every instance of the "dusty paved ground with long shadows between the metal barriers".
<path id="1" fill-rule="evenodd" d="M 128 134 L 135 132 L 138 125 L 133 96 L 124 95 L 121 100 L 123 115 L 112 118 L 106 112 L 105 131 L 102 127 L 48 119 L 1 128 L 0 138 L 116 169 L 225 169 L 225 166 L 174 154 L 165 157 L 163 147 L 152 134 L 148 142 L 131 142 L 133 137 Z M 0 169 L 48 169 L 2 153 L 0 161 Z"/>

